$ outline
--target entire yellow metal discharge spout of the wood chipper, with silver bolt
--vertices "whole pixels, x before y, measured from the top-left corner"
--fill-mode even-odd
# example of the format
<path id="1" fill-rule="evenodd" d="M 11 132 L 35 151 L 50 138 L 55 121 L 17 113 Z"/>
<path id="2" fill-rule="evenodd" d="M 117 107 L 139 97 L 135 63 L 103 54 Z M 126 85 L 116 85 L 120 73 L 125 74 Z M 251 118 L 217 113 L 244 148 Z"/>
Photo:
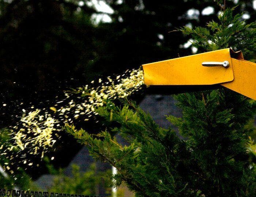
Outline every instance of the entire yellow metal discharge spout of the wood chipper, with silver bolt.
<path id="1" fill-rule="evenodd" d="M 144 83 L 156 86 L 220 84 L 256 100 L 256 64 L 242 52 L 215 50 L 142 65 Z"/>

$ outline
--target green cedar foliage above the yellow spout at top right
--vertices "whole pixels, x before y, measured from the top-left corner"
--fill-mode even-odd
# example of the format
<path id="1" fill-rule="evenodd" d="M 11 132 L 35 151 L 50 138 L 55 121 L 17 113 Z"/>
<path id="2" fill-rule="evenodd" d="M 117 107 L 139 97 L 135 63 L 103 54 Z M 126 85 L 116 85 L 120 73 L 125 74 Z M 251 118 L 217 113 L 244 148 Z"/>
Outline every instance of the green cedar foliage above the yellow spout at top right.
<path id="1" fill-rule="evenodd" d="M 256 23 L 246 24 L 242 20 L 242 14 L 234 15 L 234 8 L 221 11 L 218 22 L 211 21 L 206 27 L 182 28 L 186 35 L 192 35 L 193 46 L 207 50 L 233 48 L 242 50 L 246 58 L 252 59 L 256 47 Z"/>

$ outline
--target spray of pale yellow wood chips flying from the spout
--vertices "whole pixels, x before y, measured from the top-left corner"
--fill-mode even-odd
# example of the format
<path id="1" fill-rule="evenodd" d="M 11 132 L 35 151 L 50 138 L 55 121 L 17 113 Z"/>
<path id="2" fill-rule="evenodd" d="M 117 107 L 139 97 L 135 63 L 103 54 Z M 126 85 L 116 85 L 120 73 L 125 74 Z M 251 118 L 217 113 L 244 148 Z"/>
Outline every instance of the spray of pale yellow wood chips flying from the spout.
<path id="1" fill-rule="evenodd" d="M 99 79 L 98 82 L 101 83 L 102 79 Z M 94 83 L 94 81 L 91 83 Z M 117 76 L 116 79 L 107 77 L 107 82 L 102 83 L 97 88 L 93 87 L 90 89 L 86 85 L 81 92 L 84 98 L 83 101 L 79 99 L 79 102 L 75 103 L 75 99 L 77 98 L 72 97 L 74 94 L 65 92 L 66 98 L 63 101 L 56 102 L 54 107 L 49 107 L 49 112 L 45 109 L 36 109 L 35 111 L 29 112 L 21 118 L 20 124 L 14 126 L 12 129 L 13 144 L 7 148 L 9 155 L 11 154 L 10 158 L 18 157 L 22 159 L 19 163 L 28 166 L 39 166 L 27 159 L 26 153 L 39 155 L 43 158 L 44 154 L 48 152 L 48 149 L 52 148 L 56 140 L 60 138 L 57 132 L 61 130 L 63 124 L 66 122 L 72 123 L 74 120 L 80 118 L 80 116 L 81 120 L 89 121 L 92 114 L 98 115 L 95 109 L 99 106 L 104 106 L 104 100 L 126 98 L 135 91 L 142 89 L 143 84 L 143 71 L 141 69 L 127 70 L 125 74 Z M 67 105 L 57 107 L 59 104 L 63 105 L 63 103 L 67 103 Z M 24 113 L 26 112 L 25 109 L 22 111 Z M 2 148 L 3 145 L 0 143 L 0 155 L 7 154 L 7 150 L 2 151 Z M 14 149 L 18 149 L 18 152 L 13 152 Z M 23 154 L 24 152 L 26 153 Z M 54 157 L 51 159 L 54 159 Z"/>

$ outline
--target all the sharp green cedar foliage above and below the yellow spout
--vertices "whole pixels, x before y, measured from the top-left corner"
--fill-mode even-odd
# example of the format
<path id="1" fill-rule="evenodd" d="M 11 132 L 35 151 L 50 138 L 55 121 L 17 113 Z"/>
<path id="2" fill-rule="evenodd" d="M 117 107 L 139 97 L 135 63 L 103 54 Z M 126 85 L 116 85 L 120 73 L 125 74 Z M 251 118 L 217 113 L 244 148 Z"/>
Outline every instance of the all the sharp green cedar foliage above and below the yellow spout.
<path id="1" fill-rule="evenodd" d="M 253 59 L 255 23 L 245 24 L 241 14 L 233 14 L 235 8 L 224 9 L 218 22 L 181 31 L 191 34 L 193 45 L 203 51 L 232 47 Z M 171 127 L 159 127 L 128 100 L 123 107 L 106 101 L 106 107 L 97 109 L 106 125 L 98 135 L 72 125 L 66 129 L 95 159 L 117 168 L 115 186 L 125 182 L 136 196 L 253 196 L 255 169 L 246 152 L 251 130 L 245 126 L 255 114 L 255 101 L 226 88 L 175 98 L 182 118 L 167 119 L 186 140 Z M 129 145 L 118 143 L 115 133 Z"/>

